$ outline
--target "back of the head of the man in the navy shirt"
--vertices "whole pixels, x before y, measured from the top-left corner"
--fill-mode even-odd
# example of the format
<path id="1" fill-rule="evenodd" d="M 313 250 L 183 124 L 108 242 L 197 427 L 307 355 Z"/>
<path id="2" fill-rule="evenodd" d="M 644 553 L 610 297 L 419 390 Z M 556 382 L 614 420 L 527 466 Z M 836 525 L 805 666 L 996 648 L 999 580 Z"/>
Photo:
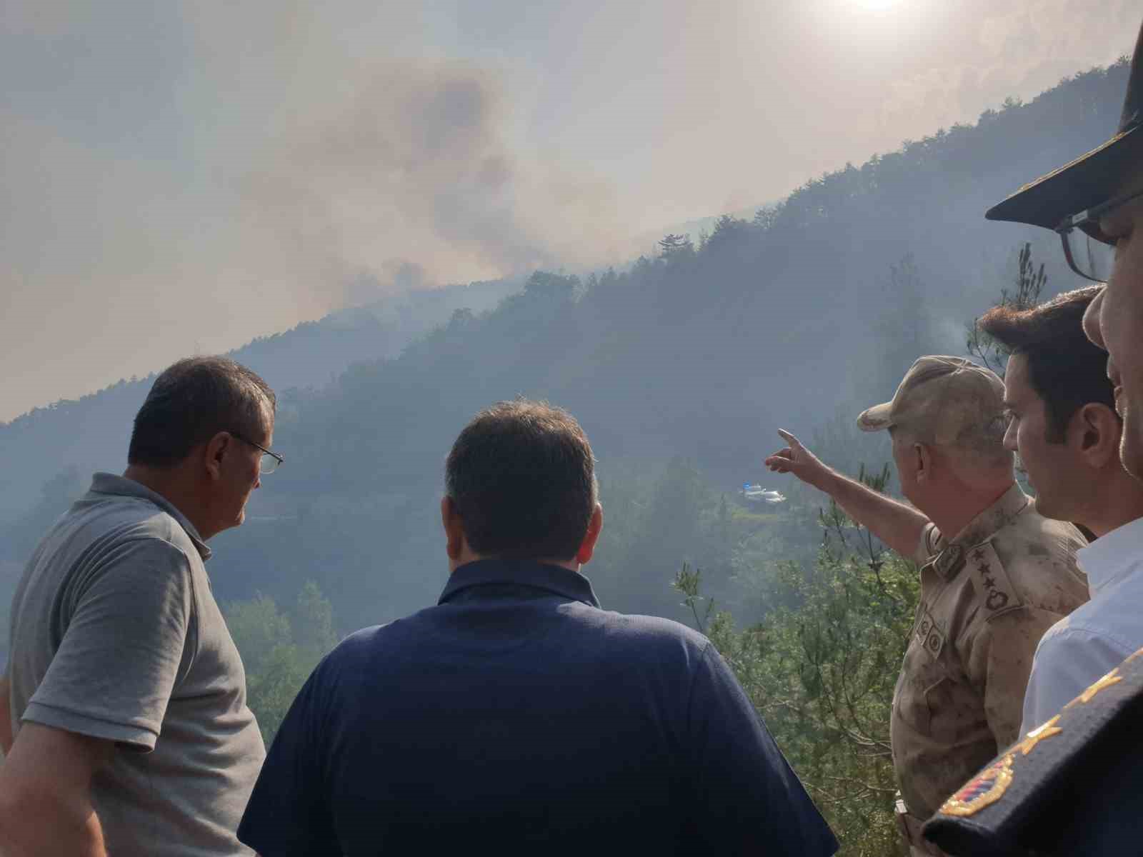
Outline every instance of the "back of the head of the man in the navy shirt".
<path id="1" fill-rule="evenodd" d="M 456 439 L 445 490 L 475 553 L 568 560 L 596 508 L 591 444 L 566 410 L 523 399 L 499 402 Z"/>

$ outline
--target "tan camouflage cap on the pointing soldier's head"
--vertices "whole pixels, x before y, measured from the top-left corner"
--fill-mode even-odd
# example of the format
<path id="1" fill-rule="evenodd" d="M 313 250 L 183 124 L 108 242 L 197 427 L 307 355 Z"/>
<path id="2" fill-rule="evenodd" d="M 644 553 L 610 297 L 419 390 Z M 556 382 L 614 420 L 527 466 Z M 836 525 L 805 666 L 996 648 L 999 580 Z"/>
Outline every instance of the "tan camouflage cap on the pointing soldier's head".
<path id="1" fill-rule="evenodd" d="M 957 443 L 978 434 L 1004 414 L 1000 377 L 958 357 L 928 355 L 905 373 L 893 400 L 862 411 L 866 432 L 900 427 L 934 443 Z"/>

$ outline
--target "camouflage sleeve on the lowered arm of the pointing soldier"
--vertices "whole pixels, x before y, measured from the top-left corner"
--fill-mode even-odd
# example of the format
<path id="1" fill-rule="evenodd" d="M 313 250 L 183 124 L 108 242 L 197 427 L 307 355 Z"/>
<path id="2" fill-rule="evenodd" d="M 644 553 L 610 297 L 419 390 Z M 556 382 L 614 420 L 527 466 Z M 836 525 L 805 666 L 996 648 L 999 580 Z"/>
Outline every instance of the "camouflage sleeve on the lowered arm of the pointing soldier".
<path id="1" fill-rule="evenodd" d="M 989 619 L 972 641 L 966 659 L 968 678 L 984 698 L 984 715 L 998 750 L 1021 736 L 1024 691 L 1036 647 L 1061 618 L 1025 606 Z"/>

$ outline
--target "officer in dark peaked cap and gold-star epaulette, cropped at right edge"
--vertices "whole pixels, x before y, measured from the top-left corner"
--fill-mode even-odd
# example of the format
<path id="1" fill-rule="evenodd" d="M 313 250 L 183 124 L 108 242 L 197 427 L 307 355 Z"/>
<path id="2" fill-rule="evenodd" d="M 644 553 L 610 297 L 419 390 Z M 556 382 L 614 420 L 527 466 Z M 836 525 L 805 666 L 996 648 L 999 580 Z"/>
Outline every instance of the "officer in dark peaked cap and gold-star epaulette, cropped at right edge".
<path id="1" fill-rule="evenodd" d="M 1024 185 L 986 217 L 1055 230 L 1071 269 L 1106 282 L 1088 306 L 1084 330 L 1108 351 L 1124 419 L 1120 459 L 1143 479 L 1143 27 L 1113 136 Z M 1140 572 L 1143 538 L 1122 545 L 1121 556 L 1126 569 L 1116 594 L 1124 607 L 1143 611 L 1121 588 Z M 925 835 L 966 857 L 1140 854 L 1141 719 L 1143 650 L 1004 748 L 941 807 Z"/>

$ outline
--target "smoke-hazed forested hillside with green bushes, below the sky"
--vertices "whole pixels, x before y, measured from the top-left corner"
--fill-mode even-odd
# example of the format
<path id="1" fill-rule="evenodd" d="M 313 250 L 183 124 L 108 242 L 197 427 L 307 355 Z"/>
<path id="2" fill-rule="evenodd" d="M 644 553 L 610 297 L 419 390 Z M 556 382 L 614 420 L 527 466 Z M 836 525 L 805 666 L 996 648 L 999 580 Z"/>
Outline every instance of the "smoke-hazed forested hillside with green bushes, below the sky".
<path id="1" fill-rule="evenodd" d="M 1102 142 L 1126 70 L 1078 74 L 906 142 L 752 219 L 666 235 L 622 272 L 535 272 L 489 309 L 442 297 L 447 315 L 417 338 L 403 322 L 339 314 L 238 352 L 282 391 L 274 448 L 286 464 L 246 524 L 214 540 L 210 571 L 267 734 L 338 630 L 435 600 L 453 439 L 489 402 L 542 398 L 581 419 L 599 459 L 605 529 L 585 570 L 605 606 L 708 627 L 856 843 L 847 852 L 885 852 L 886 676 L 916 574 L 836 514 L 820 518 L 813 492 L 772 481 L 790 499 L 759 507 L 736 489 L 767 483 L 777 427 L 831 464 L 879 472 L 885 439 L 862 435 L 854 416 L 890 397 L 918 355 L 965 352 L 966 326 L 1010 286 L 1024 242 L 1046 263 L 1044 297 L 1078 285 L 1053 235 L 983 211 Z M 0 426 L 0 598 L 88 466 L 121 465 L 144 393 L 125 382 Z M 101 458 L 78 460 L 85 444 Z M 831 699 L 850 692 L 862 702 L 839 721 Z"/>

